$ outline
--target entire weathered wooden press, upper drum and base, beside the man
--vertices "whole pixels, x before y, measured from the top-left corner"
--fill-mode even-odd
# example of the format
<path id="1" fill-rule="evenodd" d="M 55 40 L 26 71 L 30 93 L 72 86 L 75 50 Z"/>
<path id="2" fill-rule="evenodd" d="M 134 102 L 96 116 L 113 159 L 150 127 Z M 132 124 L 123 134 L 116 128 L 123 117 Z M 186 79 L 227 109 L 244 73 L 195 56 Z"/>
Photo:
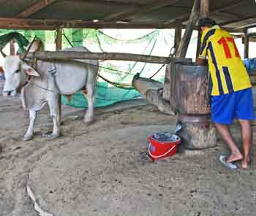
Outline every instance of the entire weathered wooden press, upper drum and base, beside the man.
<path id="1" fill-rule="evenodd" d="M 210 120 L 208 68 L 192 61 L 172 61 L 167 67 L 170 107 L 182 129 L 178 132 L 185 148 L 199 150 L 217 143 Z"/>

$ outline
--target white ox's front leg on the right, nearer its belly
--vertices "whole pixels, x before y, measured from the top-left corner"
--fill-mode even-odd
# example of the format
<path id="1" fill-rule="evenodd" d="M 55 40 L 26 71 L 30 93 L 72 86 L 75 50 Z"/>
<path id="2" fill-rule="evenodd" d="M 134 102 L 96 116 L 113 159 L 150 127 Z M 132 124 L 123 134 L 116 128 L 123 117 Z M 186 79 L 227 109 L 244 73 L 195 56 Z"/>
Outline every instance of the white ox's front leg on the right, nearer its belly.
<path id="1" fill-rule="evenodd" d="M 53 133 L 50 134 L 50 137 L 55 138 L 59 136 L 59 107 L 58 99 L 59 95 L 56 96 L 56 99 L 48 101 L 48 106 L 50 109 L 50 117 L 53 118 Z"/>

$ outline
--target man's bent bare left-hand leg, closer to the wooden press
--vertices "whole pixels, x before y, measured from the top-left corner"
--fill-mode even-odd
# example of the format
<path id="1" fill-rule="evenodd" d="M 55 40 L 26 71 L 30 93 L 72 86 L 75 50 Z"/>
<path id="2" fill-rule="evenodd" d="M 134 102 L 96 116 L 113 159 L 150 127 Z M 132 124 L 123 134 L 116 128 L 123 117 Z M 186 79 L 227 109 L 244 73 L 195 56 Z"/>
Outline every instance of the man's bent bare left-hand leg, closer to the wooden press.
<path id="1" fill-rule="evenodd" d="M 215 127 L 217 128 L 218 133 L 222 136 L 222 139 L 224 139 L 225 143 L 230 148 L 231 154 L 227 158 L 227 163 L 243 159 L 243 155 L 238 150 L 238 147 L 236 146 L 236 143 L 230 134 L 230 128 L 228 128 L 227 125 L 219 123 L 215 123 Z"/>

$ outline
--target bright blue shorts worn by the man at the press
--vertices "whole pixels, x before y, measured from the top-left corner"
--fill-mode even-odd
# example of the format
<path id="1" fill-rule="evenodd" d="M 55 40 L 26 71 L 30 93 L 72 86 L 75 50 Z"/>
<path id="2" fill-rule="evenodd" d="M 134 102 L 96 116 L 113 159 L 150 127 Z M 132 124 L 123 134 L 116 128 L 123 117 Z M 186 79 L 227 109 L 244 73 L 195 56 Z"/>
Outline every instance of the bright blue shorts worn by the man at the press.
<path id="1" fill-rule="evenodd" d="M 253 120 L 252 88 L 211 96 L 211 121 L 231 124 L 233 119 Z"/>

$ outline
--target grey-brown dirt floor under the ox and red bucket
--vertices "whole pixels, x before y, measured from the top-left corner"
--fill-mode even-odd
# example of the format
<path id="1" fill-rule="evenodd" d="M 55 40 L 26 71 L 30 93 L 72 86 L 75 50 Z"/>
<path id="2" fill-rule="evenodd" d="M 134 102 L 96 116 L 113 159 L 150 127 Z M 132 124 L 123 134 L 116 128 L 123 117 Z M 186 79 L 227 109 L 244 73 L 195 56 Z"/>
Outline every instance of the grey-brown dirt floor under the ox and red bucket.
<path id="1" fill-rule="evenodd" d="M 152 162 L 148 135 L 174 131 L 175 117 L 143 101 L 83 110 L 63 107 L 62 136 L 47 109 L 37 118 L 34 139 L 23 142 L 28 112 L 20 99 L 0 96 L 0 215 L 255 215 L 255 156 L 249 170 L 231 171 L 217 161 L 217 147 L 178 153 Z M 255 128 L 254 128 L 255 130 Z M 241 143 L 239 130 L 233 134 Z M 252 152 L 255 152 L 255 142 Z"/>

